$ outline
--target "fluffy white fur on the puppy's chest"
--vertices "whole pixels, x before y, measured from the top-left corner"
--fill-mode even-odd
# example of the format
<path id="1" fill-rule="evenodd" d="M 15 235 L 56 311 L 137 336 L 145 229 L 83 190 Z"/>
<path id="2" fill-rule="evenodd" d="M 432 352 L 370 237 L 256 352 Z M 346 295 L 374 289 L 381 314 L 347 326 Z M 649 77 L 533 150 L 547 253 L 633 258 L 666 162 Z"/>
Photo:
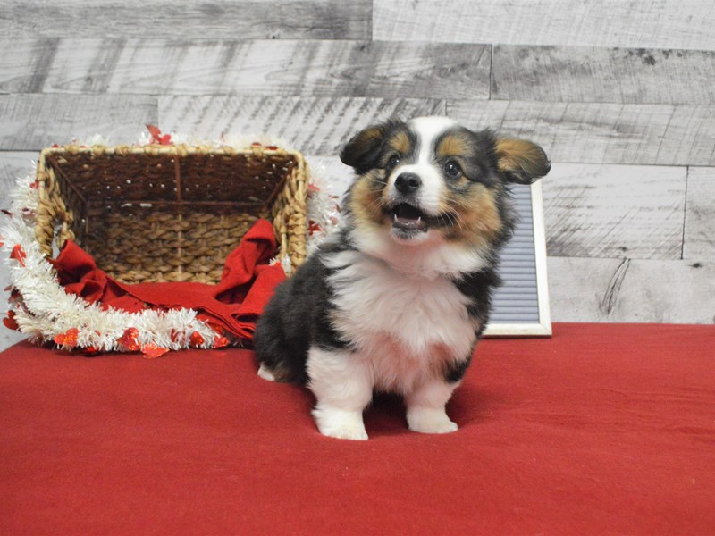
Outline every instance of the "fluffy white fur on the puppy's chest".
<path id="1" fill-rule="evenodd" d="M 443 278 L 411 278 L 357 252 L 332 255 L 332 322 L 379 389 L 406 391 L 466 358 L 475 343 L 469 299 Z"/>

